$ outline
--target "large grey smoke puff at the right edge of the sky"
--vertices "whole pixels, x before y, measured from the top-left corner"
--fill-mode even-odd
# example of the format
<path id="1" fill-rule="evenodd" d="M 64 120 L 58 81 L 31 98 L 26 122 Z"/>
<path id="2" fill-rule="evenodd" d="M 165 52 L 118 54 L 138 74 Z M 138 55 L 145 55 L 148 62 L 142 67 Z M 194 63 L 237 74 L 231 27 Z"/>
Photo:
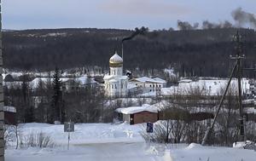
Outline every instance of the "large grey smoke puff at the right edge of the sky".
<path id="1" fill-rule="evenodd" d="M 239 27 L 249 24 L 256 28 L 256 18 L 254 14 L 247 13 L 241 8 L 235 9 L 231 12 L 233 19 L 236 21 L 236 25 Z"/>

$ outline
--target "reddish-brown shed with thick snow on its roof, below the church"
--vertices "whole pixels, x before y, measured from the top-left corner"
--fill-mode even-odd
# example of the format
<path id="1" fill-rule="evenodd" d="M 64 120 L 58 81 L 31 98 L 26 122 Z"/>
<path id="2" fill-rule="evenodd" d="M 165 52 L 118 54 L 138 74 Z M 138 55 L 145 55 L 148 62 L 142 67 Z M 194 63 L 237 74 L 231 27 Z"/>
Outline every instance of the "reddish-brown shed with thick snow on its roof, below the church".
<path id="1" fill-rule="evenodd" d="M 154 123 L 159 118 L 157 109 L 148 104 L 118 108 L 116 112 L 119 113 L 120 119 L 129 124 Z"/>

